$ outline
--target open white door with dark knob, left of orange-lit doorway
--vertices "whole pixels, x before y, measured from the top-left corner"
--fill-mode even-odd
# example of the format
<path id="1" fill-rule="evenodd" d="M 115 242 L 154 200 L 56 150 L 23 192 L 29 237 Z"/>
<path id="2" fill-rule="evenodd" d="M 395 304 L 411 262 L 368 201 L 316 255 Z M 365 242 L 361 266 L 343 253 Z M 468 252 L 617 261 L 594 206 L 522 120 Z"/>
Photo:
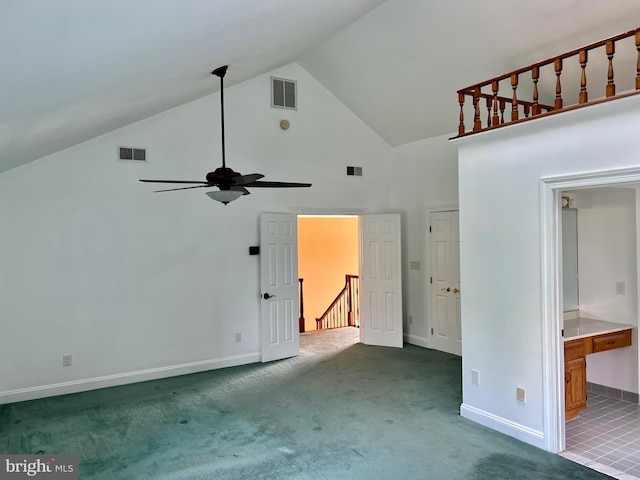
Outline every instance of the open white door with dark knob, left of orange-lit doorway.
<path id="1" fill-rule="evenodd" d="M 260 215 L 262 361 L 298 355 L 298 224 L 286 213 Z"/>

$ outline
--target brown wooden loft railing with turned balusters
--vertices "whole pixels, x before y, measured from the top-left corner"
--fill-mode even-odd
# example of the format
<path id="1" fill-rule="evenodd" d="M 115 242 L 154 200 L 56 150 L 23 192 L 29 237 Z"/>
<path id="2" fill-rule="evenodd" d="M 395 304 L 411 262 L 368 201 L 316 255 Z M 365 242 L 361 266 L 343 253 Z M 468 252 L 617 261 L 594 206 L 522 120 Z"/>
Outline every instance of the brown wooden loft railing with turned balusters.
<path id="1" fill-rule="evenodd" d="M 622 72 L 617 78 L 616 45 L 615 69 Z M 590 64 L 589 52 L 596 54 Z M 530 82 L 525 80 L 528 75 Z M 595 86 L 588 89 L 588 82 Z M 458 90 L 458 137 L 638 93 L 640 28 Z M 471 103 L 465 105 L 468 98 Z M 469 117 L 473 118 L 470 130 L 466 125 Z"/>

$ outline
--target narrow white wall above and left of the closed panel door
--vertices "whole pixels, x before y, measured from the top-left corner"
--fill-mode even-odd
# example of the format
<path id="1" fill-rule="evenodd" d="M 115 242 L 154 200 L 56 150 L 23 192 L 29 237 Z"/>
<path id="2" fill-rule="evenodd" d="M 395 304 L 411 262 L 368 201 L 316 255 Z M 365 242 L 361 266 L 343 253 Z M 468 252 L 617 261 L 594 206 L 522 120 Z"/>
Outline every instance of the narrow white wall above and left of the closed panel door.
<path id="1" fill-rule="evenodd" d="M 393 149 L 392 205 L 402 214 L 404 333 L 406 341 L 425 347 L 431 317 L 427 208 L 458 203 L 458 159 L 457 148 L 449 142 L 452 136 Z M 419 262 L 420 270 L 411 269 L 411 262 Z"/>

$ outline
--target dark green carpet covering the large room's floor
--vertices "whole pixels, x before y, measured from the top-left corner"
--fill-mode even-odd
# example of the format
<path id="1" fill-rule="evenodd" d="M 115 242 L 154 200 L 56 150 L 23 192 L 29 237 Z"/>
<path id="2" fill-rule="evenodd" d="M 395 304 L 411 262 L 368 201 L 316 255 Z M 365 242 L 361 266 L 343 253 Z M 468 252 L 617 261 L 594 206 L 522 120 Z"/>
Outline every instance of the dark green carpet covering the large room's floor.
<path id="1" fill-rule="evenodd" d="M 289 360 L 4 405 L 0 450 L 77 454 L 81 479 L 610 478 L 461 418 L 458 357 L 303 337 Z"/>

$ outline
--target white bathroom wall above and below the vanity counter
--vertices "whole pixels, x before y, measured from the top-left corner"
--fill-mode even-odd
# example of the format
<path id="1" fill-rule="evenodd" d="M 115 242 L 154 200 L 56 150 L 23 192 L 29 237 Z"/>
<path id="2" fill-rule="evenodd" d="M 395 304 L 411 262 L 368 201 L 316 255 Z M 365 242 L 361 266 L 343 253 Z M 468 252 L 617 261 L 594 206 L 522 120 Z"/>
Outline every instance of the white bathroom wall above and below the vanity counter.
<path id="1" fill-rule="evenodd" d="M 583 317 L 638 325 L 635 193 L 635 188 L 628 187 L 572 194 L 578 207 L 578 288 Z M 624 295 L 616 294 L 616 282 L 625 283 Z M 587 381 L 638 393 L 637 341 L 629 348 L 589 355 Z"/>

